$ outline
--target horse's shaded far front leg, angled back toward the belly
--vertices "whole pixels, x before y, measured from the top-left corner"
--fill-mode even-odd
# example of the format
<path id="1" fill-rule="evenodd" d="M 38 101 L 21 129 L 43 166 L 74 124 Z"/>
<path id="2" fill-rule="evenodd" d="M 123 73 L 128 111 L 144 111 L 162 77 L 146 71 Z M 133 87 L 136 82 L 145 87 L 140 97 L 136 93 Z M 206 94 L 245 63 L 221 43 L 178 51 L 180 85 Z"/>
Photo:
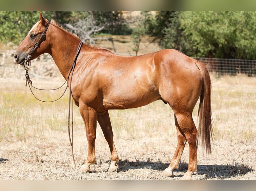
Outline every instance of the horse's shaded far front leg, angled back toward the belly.
<path id="1" fill-rule="evenodd" d="M 118 170 L 117 162 L 118 162 L 119 158 L 118 158 L 116 147 L 115 147 L 115 144 L 113 141 L 113 131 L 112 131 L 112 126 L 111 126 L 108 111 L 99 112 L 97 114 L 97 120 L 101 126 L 104 137 L 105 137 L 106 141 L 108 142 L 109 149 L 110 149 L 111 163 L 108 168 L 108 172 L 115 172 Z"/>

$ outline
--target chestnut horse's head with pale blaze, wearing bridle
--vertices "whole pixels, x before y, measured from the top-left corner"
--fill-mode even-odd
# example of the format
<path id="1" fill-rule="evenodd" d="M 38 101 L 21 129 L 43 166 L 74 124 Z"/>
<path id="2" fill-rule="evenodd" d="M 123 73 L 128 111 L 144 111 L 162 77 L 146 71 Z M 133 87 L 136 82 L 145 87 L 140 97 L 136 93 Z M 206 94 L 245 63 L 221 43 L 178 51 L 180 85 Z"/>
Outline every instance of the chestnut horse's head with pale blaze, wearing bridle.
<path id="1" fill-rule="evenodd" d="M 29 65 L 29 62 L 39 55 L 49 53 L 49 36 L 46 35 L 49 24 L 40 13 L 40 21 L 31 28 L 15 51 L 14 59 L 17 64 Z"/>

